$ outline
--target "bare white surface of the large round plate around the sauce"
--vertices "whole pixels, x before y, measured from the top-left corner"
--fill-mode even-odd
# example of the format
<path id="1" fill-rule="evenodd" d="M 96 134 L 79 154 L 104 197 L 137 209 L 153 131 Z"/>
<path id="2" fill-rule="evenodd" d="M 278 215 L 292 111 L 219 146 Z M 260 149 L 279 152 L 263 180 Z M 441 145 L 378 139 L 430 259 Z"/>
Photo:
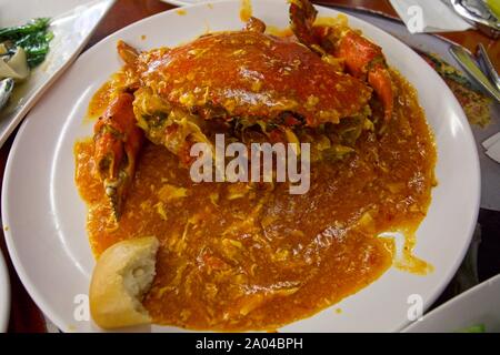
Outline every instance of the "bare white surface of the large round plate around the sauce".
<path id="1" fill-rule="evenodd" d="M 288 26 L 288 4 L 252 1 L 254 16 L 269 24 Z M 74 300 L 87 294 L 94 264 L 86 233 L 86 205 L 73 182 L 73 144 L 89 136 L 82 123 L 92 93 L 121 65 L 117 40 L 149 49 L 176 45 L 212 31 L 240 29 L 240 1 L 186 8 L 187 13 L 163 12 L 134 23 L 82 54 L 34 108 L 21 128 L 7 164 L 2 216 L 7 243 L 16 268 L 43 312 L 63 331 L 97 331 L 91 322 L 77 321 Z M 321 8 L 321 16 L 338 12 Z M 369 287 L 336 307 L 290 324 L 281 332 L 392 332 L 408 324 L 410 295 L 429 306 L 460 264 L 476 225 L 479 206 L 479 165 L 467 119 L 444 82 L 408 47 L 374 28 L 350 18 L 384 49 L 391 65 L 413 83 L 436 134 L 439 186 L 418 233 L 416 254 L 436 271 L 417 276 L 390 268 Z M 167 31 L 166 29 L 170 29 Z M 141 37 L 146 36 L 146 40 Z M 411 298 L 410 298 L 411 300 Z M 78 311 L 79 308 L 77 308 Z M 152 331 L 178 331 L 152 326 Z"/>

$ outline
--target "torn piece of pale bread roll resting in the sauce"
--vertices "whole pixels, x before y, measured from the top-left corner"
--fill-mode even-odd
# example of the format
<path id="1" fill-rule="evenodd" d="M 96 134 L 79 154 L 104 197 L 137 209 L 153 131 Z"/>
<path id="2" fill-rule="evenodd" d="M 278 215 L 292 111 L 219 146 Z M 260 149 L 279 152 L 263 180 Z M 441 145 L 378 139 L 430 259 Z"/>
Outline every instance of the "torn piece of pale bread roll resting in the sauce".
<path id="1" fill-rule="evenodd" d="M 151 323 L 142 306 L 156 271 L 159 242 L 153 236 L 118 242 L 99 257 L 90 283 L 90 313 L 102 328 Z"/>

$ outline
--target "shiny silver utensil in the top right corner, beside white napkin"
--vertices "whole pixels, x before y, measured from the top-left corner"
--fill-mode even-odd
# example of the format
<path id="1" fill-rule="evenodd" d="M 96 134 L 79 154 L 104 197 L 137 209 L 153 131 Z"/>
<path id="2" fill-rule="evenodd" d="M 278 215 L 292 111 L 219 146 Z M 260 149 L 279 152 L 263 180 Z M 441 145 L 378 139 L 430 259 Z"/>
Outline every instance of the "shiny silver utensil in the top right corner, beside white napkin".
<path id="1" fill-rule="evenodd" d="M 451 0 L 454 11 L 468 21 L 472 21 L 484 34 L 500 37 L 500 21 L 490 9 L 479 0 Z"/>

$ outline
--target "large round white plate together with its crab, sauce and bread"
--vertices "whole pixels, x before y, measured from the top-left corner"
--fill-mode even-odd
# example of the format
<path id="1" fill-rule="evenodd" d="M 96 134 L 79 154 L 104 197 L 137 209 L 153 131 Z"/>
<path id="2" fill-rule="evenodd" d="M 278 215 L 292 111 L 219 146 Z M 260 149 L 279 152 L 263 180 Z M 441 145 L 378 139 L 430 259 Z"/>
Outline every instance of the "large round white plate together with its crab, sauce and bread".
<path id="1" fill-rule="evenodd" d="M 313 9 L 293 6 L 296 37 L 286 1 L 134 23 L 30 113 L 6 171 L 6 237 L 61 329 L 100 329 L 94 255 L 104 327 L 393 332 L 442 292 L 479 205 L 459 103 L 380 29 L 326 8 L 311 29 Z M 200 182 L 188 153 L 219 146 L 217 133 L 243 151 L 288 143 L 309 156 L 306 189 Z"/>

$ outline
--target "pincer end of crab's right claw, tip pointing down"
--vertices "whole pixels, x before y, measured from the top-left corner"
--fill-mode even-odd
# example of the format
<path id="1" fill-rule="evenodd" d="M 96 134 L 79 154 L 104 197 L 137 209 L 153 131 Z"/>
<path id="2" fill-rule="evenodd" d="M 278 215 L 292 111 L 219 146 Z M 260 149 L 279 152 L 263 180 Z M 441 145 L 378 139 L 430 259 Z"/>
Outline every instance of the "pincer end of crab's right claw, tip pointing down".
<path id="1" fill-rule="evenodd" d="M 382 102 L 384 120 L 390 121 L 394 92 L 382 49 L 361 34 L 350 30 L 339 40 L 334 55 L 344 60 L 347 71 L 356 78 L 368 80 Z"/>

